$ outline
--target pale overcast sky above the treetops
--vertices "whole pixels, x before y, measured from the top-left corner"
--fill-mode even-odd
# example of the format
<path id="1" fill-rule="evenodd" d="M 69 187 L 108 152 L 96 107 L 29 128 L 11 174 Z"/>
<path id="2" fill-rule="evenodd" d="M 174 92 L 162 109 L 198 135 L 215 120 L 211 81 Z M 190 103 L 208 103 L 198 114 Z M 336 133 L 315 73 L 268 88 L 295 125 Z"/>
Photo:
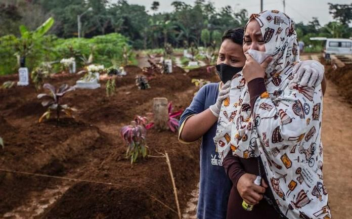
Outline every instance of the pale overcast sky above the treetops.
<path id="1" fill-rule="evenodd" d="M 171 12 L 173 0 L 156 0 L 160 3 L 159 12 Z M 182 1 L 182 0 L 179 0 Z M 117 2 L 117 0 L 110 0 Z M 127 0 L 129 4 L 144 5 L 146 10 L 150 10 L 153 0 Z M 183 0 L 187 4 L 193 5 L 194 0 Z M 260 0 L 213 0 L 216 8 L 221 8 L 230 5 L 235 10 L 247 9 L 248 14 L 258 13 L 260 11 Z M 329 14 L 328 3 L 333 4 L 350 4 L 351 0 L 286 0 L 286 14 L 292 17 L 295 23 L 303 21 L 307 23 L 312 20 L 312 17 L 318 17 L 321 25 L 332 21 Z M 283 0 L 263 0 L 263 9 L 276 9 L 283 11 Z"/>

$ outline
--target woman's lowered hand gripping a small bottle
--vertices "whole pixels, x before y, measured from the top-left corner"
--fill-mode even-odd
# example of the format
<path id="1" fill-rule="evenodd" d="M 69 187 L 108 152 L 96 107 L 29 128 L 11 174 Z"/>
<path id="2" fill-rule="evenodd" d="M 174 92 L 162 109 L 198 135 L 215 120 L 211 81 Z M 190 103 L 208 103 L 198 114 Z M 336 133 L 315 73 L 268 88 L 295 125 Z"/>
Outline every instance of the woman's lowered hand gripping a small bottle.
<path id="1" fill-rule="evenodd" d="M 261 180 L 262 186 L 257 186 L 254 184 L 256 176 L 249 173 L 244 173 L 237 182 L 237 191 L 242 197 L 242 199 L 250 205 L 258 204 L 263 198 L 263 193 L 265 193 L 268 185 L 265 181 Z"/>

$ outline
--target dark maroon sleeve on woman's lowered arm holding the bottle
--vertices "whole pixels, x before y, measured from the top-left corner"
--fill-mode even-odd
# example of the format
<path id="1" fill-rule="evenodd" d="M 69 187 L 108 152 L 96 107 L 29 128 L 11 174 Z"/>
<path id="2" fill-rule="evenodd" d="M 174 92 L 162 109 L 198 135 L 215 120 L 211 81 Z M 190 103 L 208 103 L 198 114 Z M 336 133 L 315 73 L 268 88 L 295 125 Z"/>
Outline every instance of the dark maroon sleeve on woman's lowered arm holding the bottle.
<path id="1" fill-rule="evenodd" d="M 230 178 L 234 186 L 237 186 L 237 182 L 246 171 L 244 171 L 239 157 L 232 155 L 232 151 L 223 160 L 223 166 L 225 168 L 227 176 Z"/>

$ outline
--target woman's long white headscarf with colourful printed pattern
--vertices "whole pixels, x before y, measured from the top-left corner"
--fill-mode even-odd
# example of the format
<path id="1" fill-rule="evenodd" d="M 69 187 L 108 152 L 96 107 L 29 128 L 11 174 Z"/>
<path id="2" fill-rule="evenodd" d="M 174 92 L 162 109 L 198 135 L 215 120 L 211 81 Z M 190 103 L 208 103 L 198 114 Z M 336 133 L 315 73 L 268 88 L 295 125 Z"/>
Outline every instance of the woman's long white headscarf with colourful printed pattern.
<path id="1" fill-rule="evenodd" d="M 322 172 L 321 85 L 293 81 L 299 51 L 287 15 L 273 10 L 251 19 L 258 21 L 266 53 L 273 57 L 266 69 L 267 93 L 251 107 L 247 84 L 237 89 L 239 78 L 231 82 L 230 104 L 221 109 L 232 115 L 231 121 L 221 113 L 214 138 L 219 157 L 229 151 L 242 158 L 260 157 L 275 201 L 288 218 L 331 218 Z"/>

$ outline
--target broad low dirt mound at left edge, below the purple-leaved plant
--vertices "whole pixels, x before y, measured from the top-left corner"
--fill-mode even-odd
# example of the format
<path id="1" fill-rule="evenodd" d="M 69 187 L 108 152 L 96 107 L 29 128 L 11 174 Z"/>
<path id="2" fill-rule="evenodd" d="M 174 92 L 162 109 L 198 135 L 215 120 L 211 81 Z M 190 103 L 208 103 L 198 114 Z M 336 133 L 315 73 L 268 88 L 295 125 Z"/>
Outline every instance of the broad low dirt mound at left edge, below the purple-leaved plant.
<path id="1" fill-rule="evenodd" d="M 54 120 L 32 124 L 2 137 L 5 141 L 5 148 L 0 151 L 0 157 L 4 158 L 2 168 L 55 176 L 85 162 L 89 157 L 82 156 L 84 153 L 109 144 L 106 134 L 97 127 L 72 119 L 62 119 L 58 127 Z M 33 188 L 41 190 L 49 182 L 46 178 L 0 173 L 0 190 L 8 191 L 0 193 L 0 199 L 4 200 L 0 203 L 0 214 L 21 204 L 19 200 Z"/>

